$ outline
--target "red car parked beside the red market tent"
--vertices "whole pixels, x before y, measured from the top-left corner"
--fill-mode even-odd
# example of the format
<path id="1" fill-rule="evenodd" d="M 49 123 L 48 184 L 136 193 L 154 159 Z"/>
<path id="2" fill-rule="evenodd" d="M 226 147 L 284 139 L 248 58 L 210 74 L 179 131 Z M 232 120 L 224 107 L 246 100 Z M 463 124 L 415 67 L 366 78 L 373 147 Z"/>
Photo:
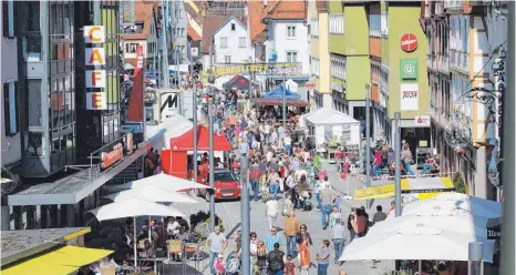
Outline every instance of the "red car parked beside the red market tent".
<path id="1" fill-rule="evenodd" d="M 209 185 L 209 176 L 197 181 L 200 184 Z M 238 177 L 229 170 L 215 170 L 214 171 L 215 182 L 215 200 L 236 200 L 240 198 L 240 184 Z M 207 190 L 197 190 L 198 196 L 204 196 L 206 201 L 209 201 Z"/>

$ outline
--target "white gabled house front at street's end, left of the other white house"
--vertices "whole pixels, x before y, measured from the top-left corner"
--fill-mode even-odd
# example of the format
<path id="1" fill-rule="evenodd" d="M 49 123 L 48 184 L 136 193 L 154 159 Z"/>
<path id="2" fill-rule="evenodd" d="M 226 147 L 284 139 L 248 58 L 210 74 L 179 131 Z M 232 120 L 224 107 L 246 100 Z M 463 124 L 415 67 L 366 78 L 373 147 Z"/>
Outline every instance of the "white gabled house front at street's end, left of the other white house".
<path id="1" fill-rule="evenodd" d="M 229 18 L 214 32 L 214 45 L 218 64 L 244 63 L 255 55 L 247 28 L 235 18 Z"/>

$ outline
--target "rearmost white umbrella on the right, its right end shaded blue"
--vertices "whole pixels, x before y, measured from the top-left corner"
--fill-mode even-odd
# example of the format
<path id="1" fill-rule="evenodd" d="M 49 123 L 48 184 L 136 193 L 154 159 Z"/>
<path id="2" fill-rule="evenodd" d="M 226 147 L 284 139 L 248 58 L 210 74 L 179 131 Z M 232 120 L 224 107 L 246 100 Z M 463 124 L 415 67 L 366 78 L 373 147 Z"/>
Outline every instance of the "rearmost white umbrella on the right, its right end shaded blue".
<path id="1" fill-rule="evenodd" d="M 433 198 L 409 203 L 402 207 L 402 216 L 406 215 L 461 215 L 469 214 L 486 218 L 502 216 L 502 204 L 458 193 L 441 194 Z M 389 215 L 389 218 L 392 218 Z"/>

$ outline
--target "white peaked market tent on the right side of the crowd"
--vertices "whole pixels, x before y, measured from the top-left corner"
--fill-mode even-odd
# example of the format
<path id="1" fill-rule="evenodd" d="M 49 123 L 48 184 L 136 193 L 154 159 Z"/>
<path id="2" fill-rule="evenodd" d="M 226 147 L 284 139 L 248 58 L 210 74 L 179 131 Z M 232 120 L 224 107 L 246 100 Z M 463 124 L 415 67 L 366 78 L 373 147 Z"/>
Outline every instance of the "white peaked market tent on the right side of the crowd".
<path id="1" fill-rule="evenodd" d="M 332 142 L 360 144 L 360 122 L 344 113 L 321 108 L 305 115 L 305 120 L 318 145 Z"/>

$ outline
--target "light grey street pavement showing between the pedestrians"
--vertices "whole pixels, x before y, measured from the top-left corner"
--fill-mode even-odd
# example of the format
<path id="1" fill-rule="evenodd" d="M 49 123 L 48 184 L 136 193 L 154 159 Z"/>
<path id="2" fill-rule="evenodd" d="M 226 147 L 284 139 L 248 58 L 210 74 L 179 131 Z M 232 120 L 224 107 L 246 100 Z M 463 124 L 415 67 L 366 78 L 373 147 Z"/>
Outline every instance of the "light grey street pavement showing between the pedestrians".
<path id="1" fill-rule="evenodd" d="M 355 187 L 362 187 L 364 183 L 358 179 L 349 177 L 348 180 L 341 180 L 339 174 L 337 173 L 336 165 L 329 164 L 328 162 L 323 162 L 323 167 L 328 170 L 330 182 L 332 186 L 341 192 L 342 194 L 353 194 L 353 190 Z M 384 181 L 374 181 L 371 185 L 381 185 Z M 312 198 L 314 202 L 314 198 Z M 188 204 L 188 205 L 180 205 L 175 204 L 175 207 L 179 208 L 184 212 L 187 216 L 194 214 L 198 211 L 207 211 L 209 208 L 208 203 L 206 203 L 203 198 L 198 198 L 198 204 Z M 282 204 L 282 200 L 279 202 L 280 206 Z M 372 202 L 372 206 L 375 210 L 375 206 L 380 204 L 383 206 L 384 210 L 389 210 L 390 200 L 376 200 Z M 344 206 L 342 208 L 343 216 L 348 216 L 350 208 L 357 206 L 365 206 L 365 201 L 353 201 L 347 200 L 344 201 Z M 219 202 L 216 203 L 216 212 L 223 218 L 224 226 L 226 228 L 226 235 L 229 238 L 229 247 L 233 248 L 234 245 L 234 237 L 236 235 L 236 231 L 240 228 L 240 202 Z M 368 213 L 373 214 L 373 211 L 368 211 Z M 259 240 L 264 240 L 268 233 L 268 222 L 267 217 L 265 216 L 265 204 L 260 202 L 251 202 L 250 208 L 250 220 L 251 220 L 251 231 L 258 234 Z M 297 212 L 297 217 L 299 218 L 300 223 L 307 224 L 308 232 L 312 236 L 313 240 L 313 248 L 311 251 L 311 258 L 314 262 L 316 254 L 318 253 L 319 247 L 321 246 L 321 242 L 324 238 L 330 237 L 330 233 L 328 231 L 322 231 L 321 222 L 320 222 L 320 213 L 316 211 L 311 212 Z M 283 217 L 279 216 L 277 224 L 282 225 Z M 349 236 L 348 236 L 349 240 Z M 349 242 L 349 241 L 348 241 Z M 344 247 L 345 248 L 345 247 Z M 331 259 L 333 259 L 334 254 L 332 252 Z M 200 263 L 200 266 L 206 266 L 206 268 L 199 268 L 202 273 L 196 272 L 194 268 L 187 268 L 186 274 L 209 274 L 209 268 L 207 268 L 208 261 Z M 394 267 L 394 261 L 382 261 L 375 264 L 373 267 L 372 263 L 363 263 L 361 261 L 353 261 L 353 262 L 345 262 L 342 266 L 334 265 L 331 261 L 330 267 L 328 269 L 328 274 L 338 274 L 339 271 L 345 271 L 347 274 L 360 274 L 360 275 L 372 275 L 372 274 L 381 274 L 382 272 L 386 271 L 388 267 L 391 269 Z M 183 274 L 182 267 L 176 266 L 173 271 L 167 271 L 167 274 Z M 310 268 L 310 274 L 317 274 L 317 268 Z"/>

